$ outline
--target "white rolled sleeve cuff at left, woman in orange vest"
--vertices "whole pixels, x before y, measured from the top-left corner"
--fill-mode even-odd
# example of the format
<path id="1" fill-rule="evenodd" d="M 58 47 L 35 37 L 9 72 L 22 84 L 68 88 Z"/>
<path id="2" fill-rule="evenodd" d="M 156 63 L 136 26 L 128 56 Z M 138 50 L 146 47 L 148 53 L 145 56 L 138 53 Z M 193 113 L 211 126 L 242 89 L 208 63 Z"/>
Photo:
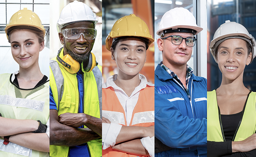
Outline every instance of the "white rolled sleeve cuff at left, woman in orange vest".
<path id="1" fill-rule="evenodd" d="M 104 124 L 104 123 L 103 123 Z M 106 132 L 105 138 L 102 135 L 102 139 L 104 138 L 104 143 L 102 149 L 107 149 L 109 147 L 113 147 L 116 144 L 117 136 L 122 128 L 122 125 L 117 123 L 110 123 L 108 128 L 103 128 L 102 124 L 102 130 L 104 129 Z M 105 123 L 106 124 L 106 123 Z"/>

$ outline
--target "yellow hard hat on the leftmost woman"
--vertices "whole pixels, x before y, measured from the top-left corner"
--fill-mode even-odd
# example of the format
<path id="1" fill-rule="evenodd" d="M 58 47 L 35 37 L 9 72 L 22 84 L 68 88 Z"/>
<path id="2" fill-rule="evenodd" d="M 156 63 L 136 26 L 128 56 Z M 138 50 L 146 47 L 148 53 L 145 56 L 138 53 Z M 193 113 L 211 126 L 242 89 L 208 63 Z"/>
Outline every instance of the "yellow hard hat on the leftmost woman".
<path id="1" fill-rule="evenodd" d="M 9 32 L 15 28 L 39 29 L 43 31 L 45 35 L 45 28 L 42 25 L 38 15 L 27 8 L 19 10 L 11 16 L 9 24 L 7 24 L 5 27 L 5 33 L 8 40 Z"/>

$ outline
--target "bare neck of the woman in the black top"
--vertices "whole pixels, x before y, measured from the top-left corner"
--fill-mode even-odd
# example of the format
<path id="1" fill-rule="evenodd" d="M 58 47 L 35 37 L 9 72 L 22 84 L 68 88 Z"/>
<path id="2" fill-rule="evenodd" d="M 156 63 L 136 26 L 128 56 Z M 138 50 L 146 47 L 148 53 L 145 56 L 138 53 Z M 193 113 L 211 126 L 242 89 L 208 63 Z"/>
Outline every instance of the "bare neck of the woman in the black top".
<path id="1" fill-rule="evenodd" d="M 225 78 L 222 75 L 221 86 L 217 89 L 218 95 L 236 95 L 248 92 L 243 83 L 243 74 L 234 80 Z"/>

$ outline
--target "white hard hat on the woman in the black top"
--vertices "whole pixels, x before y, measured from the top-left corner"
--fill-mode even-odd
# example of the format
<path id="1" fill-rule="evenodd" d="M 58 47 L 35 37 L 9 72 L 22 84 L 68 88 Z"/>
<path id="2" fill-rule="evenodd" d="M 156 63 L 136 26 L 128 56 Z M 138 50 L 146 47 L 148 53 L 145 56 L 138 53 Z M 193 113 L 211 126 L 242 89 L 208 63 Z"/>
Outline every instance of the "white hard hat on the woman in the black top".
<path id="1" fill-rule="evenodd" d="M 229 20 L 227 20 L 216 30 L 213 36 L 213 40 L 211 41 L 210 44 L 210 51 L 216 63 L 217 60 L 215 57 L 215 50 L 222 42 L 224 42 L 227 39 L 242 39 L 248 42 L 252 47 L 252 62 L 253 58 L 256 56 L 256 42 L 254 37 L 251 34 L 249 34 L 247 29 L 243 25 L 236 22 L 230 22 Z"/>

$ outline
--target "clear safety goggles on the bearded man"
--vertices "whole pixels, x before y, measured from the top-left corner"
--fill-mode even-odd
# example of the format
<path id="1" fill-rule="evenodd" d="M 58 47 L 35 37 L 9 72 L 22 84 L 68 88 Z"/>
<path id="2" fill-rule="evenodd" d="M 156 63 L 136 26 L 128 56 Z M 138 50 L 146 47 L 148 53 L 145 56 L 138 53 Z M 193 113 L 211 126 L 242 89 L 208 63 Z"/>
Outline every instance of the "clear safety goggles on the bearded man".
<path id="1" fill-rule="evenodd" d="M 71 40 L 77 40 L 80 38 L 81 34 L 86 40 L 93 40 L 96 38 L 97 30 L 93 28 L 66 28 L 62 30 L 62 34 L 65 38 Z"/>

